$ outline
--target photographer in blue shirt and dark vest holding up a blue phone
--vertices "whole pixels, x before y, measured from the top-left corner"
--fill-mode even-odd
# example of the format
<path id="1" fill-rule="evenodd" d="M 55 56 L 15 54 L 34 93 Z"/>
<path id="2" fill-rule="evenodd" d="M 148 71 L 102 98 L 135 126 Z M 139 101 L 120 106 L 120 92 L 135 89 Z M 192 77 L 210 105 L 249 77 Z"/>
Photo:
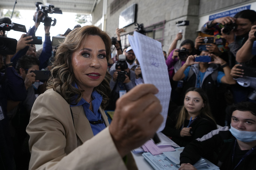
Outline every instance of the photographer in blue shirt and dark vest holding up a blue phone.
<path id="1" fill-rule="evenodd" d="M 218 84 L 235 84 L 236 81 L 230 76 L 230 68 L 223 59 L 208 51 L 202 51 L 201 56 L 211 56 L 212 62 L 195 62 L 196 55 L 188 56 L 183 66 L 174 74 L 173 80 L 184 79 L 183 91 L 190 87 L 202 88 L 206 91 L 209 98 L 211 109 L 217 124 L 224 125 L 225 112 L 222 106 L 221 98 L 218 98 Z M 218 65 L 223 71 L 218 71 Z"/>

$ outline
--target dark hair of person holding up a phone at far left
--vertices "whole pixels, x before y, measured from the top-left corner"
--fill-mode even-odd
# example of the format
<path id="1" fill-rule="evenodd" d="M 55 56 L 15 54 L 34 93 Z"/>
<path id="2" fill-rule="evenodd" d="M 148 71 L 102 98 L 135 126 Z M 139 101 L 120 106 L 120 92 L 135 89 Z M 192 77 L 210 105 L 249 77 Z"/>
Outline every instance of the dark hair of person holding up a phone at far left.
<path id="1" fill-rule="evenodd" d="M 18 74 L 20 74 L 19 69 L 23 68 L 23 69 L 25 69 L 26 74 L 27 74 L 28 69 L 34 65 L 39 66 L 40 65 L 39 60 L 37 58 L 35 58 L 34 56 L 24 55 L 18 59 L 15 69 L 18 72 Z"/>

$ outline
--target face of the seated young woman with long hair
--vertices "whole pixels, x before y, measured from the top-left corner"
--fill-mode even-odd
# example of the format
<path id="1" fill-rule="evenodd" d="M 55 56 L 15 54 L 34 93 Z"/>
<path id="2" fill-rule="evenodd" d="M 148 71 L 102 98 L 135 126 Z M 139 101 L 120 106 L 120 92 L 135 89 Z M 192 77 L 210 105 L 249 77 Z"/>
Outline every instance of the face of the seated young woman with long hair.
<path id="1" fill-rule="evenodd" d="M 188 113 L 199 114 L 204 107 L 204 102 L 200 94 L 196 91 L 189 91 L 185 95 L 184 106 Z"/>

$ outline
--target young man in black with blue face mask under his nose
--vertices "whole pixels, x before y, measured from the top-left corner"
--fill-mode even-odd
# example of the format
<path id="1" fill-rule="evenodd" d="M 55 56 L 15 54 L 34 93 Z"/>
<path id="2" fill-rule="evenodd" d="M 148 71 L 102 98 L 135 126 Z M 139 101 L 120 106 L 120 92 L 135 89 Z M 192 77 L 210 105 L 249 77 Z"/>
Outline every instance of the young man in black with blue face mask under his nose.
<path id="1" fill-rule="evenodd" d="M 256 103 L 238 103 L 231 112 L 231 128 L 213 130 L 185 147 L 180 154 L 179 170 L 195 169 L 192 165 L 201 156 L 221 170 L 256 169 Z"/>

